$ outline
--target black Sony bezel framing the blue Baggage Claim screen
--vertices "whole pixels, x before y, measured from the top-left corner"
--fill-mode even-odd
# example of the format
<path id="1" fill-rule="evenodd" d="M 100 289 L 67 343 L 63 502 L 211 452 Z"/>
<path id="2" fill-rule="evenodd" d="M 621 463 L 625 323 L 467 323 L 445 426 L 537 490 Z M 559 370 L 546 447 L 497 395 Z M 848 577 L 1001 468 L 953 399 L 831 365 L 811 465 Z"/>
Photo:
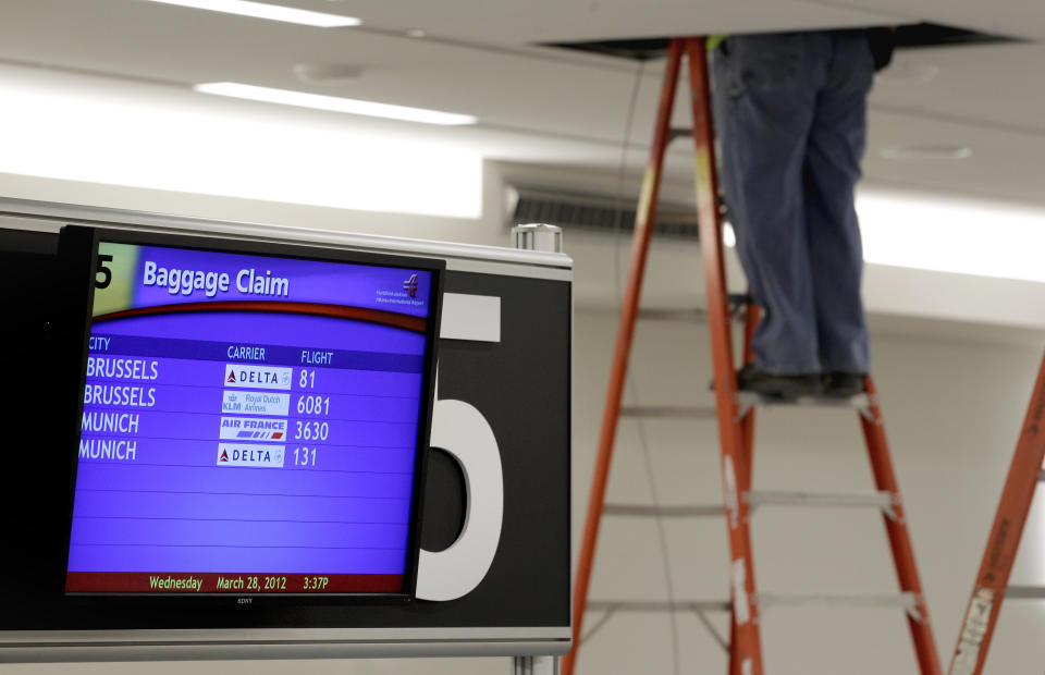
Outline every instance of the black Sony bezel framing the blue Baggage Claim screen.
<path id="1" fill-rule="evenodd" d="M 91 329 L 91 307 L 94 306 L 95 278 L 98 262 L 98 245 L 101 242 L 131 244 L 140 246 L 162 246 L 186 248 L 195 250 L 260 255 L 275 258 L 292 258 L 317 260 L 323 262 L 347 262 L 374 267 L 395 267 L 407 270 L 422 270 L 431 272 L 430 314 L 426 330 L 426 357 L 423 366 L 422 398 L 420 424 L 418 427 L 417 453 L 415 458 L 415 477 L 413 503 L 410 507 L 410 527 L 407 540 L 407 565 L 404 574 L 403 590 L 392 593 L 181 593 L 181 592 L 69 592 L 65 590 L 65 574 L 69 569 L 69 541 L 72 532 L 73 499 L 76 488 L 76 471 L 78 466 L 78 446 L 81 435 L 79 420 L 83 417 L 84 388 L 86 385 L 86 367 L 88 344 Z M 88 608 L 99 605 L 113 609 L 168 608 L 177 604 L 183 609 L 190 608 L 243 608 L 257 606 L 278 610 L 280 608 L 306 609 L 308 606 L 329 606 L 343 603 L 401 603 L 415 599 L 417 589 L 417 570 L 420 556 L 421 506 L 423 504 L 423 488 L 427 477 L 428 450 L 431 434 L 432 407 L 434 405 L 435 367 L 438 360 L 439 326 L 442 316 L 443 283 L 446 271 L 444 260 L 426 257 L 386 255 L 340 247 L 322 247 L 311 244 L 293 242 L 269 242 L 256 240 L 236 240 L 226 236 L 198 236 L 183 234 L 157 233 L 146 230 L 118 230 L 104 228 L 89 228 L 82 225 L 66 225 L 62 228 L 59 242 L 59 255 L 63 260 L 69 289 L 69 304 L 65 317 L 70 324 L 63 331 L 70 341 L 67 353 L 71 355 L 66 366 L 73 363 L 72 355 L 77 361 L 74 366 L 77 372 L 75 400 L 69 409 L 75 409 L 71 415 L 70 431 L 62 438 L 69 438 L 69 457 L 72 464 L 70 471 L 69 498 L 66 505 L 65 560 L 63 561 L 62 587 L 59 590 L 67 602 L 86 604 Z M 85 283 L 86 281 L 86 283 Z M 86 292 L 84 292 L 86 289 Z M 73 424 L 75 422 L 75 424 Z"/>

